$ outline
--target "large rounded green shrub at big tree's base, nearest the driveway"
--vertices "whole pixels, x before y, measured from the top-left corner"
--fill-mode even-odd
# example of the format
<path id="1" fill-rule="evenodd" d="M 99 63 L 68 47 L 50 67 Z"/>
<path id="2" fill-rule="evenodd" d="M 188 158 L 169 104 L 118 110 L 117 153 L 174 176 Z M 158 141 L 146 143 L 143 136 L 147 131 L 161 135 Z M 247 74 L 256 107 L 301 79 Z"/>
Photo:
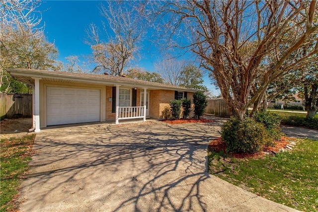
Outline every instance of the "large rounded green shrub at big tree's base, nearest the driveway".
<path id="1" fill-rule="evenodd" d="M 222 139 L 229 152 L 257 152 L 266 142 L 265 127 L 252 118 L 231 118 L 221 128 Z"/>

